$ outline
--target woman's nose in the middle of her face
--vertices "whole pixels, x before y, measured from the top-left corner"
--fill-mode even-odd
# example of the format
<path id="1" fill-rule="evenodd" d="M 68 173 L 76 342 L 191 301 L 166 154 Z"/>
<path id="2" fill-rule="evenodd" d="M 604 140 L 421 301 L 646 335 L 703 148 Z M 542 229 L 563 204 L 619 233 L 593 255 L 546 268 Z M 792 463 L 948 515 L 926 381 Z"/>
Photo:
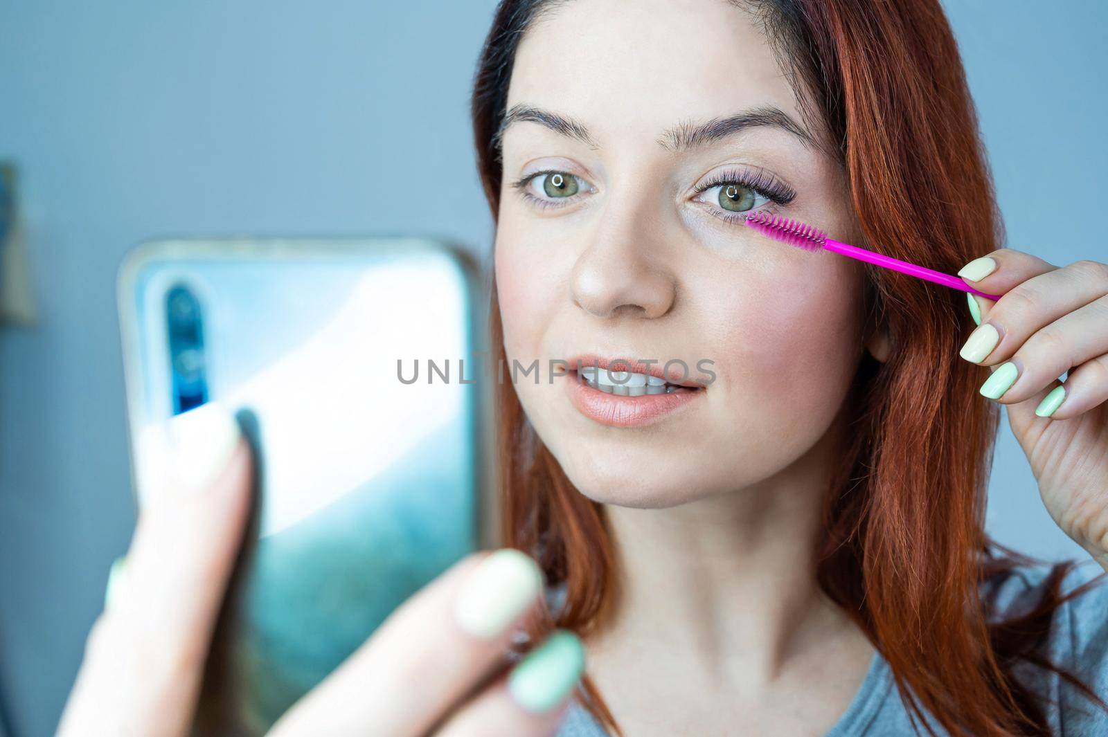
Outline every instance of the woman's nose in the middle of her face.
<path id="1" fill-rule="evenodd" d="M 674 307 L 676 280 L 656 242 L 660 227 L 634 212 L 605 214 L 588 248 L 574 263 L 570 291 L 574 303 L 597 318 L 633 314 L 660 318 Z M 654 230 L 648 235 L 647 230 Z"/>

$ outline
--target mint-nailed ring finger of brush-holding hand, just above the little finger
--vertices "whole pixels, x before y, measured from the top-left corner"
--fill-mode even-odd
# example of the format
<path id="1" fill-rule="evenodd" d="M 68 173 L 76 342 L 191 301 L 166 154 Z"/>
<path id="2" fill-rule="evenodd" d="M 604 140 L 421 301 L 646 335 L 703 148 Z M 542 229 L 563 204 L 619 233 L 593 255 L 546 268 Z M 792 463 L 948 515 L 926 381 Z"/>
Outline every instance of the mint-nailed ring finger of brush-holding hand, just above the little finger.
<path id="1" fill-rule="evenodd" d="M 1035 332 L 1010 359 L 995 367 L 981 393 L 1004 404 L 1025 402 L 1065 372 L 1104 353 L 1108 353 L 1108 297 Z"/>

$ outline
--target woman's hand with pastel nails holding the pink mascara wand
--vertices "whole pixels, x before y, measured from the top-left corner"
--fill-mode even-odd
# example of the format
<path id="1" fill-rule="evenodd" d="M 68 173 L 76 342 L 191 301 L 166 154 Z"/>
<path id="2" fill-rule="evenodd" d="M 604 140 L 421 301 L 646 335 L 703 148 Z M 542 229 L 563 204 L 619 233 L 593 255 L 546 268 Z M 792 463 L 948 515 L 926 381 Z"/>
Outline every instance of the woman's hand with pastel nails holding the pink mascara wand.
<path id="1" fill-rule="evenodd" d="M 1001 295 L 966 293 L 979 325 L 962 357 L 989 367 L 981 393 L 1007 405 L 1047 510 L 1108 570 L 1108 263 L 1002 248 L 958 276 Z"/>

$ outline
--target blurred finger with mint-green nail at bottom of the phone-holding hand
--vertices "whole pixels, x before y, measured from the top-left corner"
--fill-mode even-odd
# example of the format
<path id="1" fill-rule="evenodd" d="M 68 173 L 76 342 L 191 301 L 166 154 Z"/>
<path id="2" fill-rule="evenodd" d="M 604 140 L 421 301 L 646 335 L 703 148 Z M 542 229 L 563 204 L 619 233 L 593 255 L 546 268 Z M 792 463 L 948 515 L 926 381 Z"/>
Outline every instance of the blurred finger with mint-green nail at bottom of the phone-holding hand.
<path id="1" fill-rule="evenodd" d="M 547 737 L 565 719 L 585 667 L 575 634 L 556 630 L 538 647 L 454 712 L 434 737 Z"/>

